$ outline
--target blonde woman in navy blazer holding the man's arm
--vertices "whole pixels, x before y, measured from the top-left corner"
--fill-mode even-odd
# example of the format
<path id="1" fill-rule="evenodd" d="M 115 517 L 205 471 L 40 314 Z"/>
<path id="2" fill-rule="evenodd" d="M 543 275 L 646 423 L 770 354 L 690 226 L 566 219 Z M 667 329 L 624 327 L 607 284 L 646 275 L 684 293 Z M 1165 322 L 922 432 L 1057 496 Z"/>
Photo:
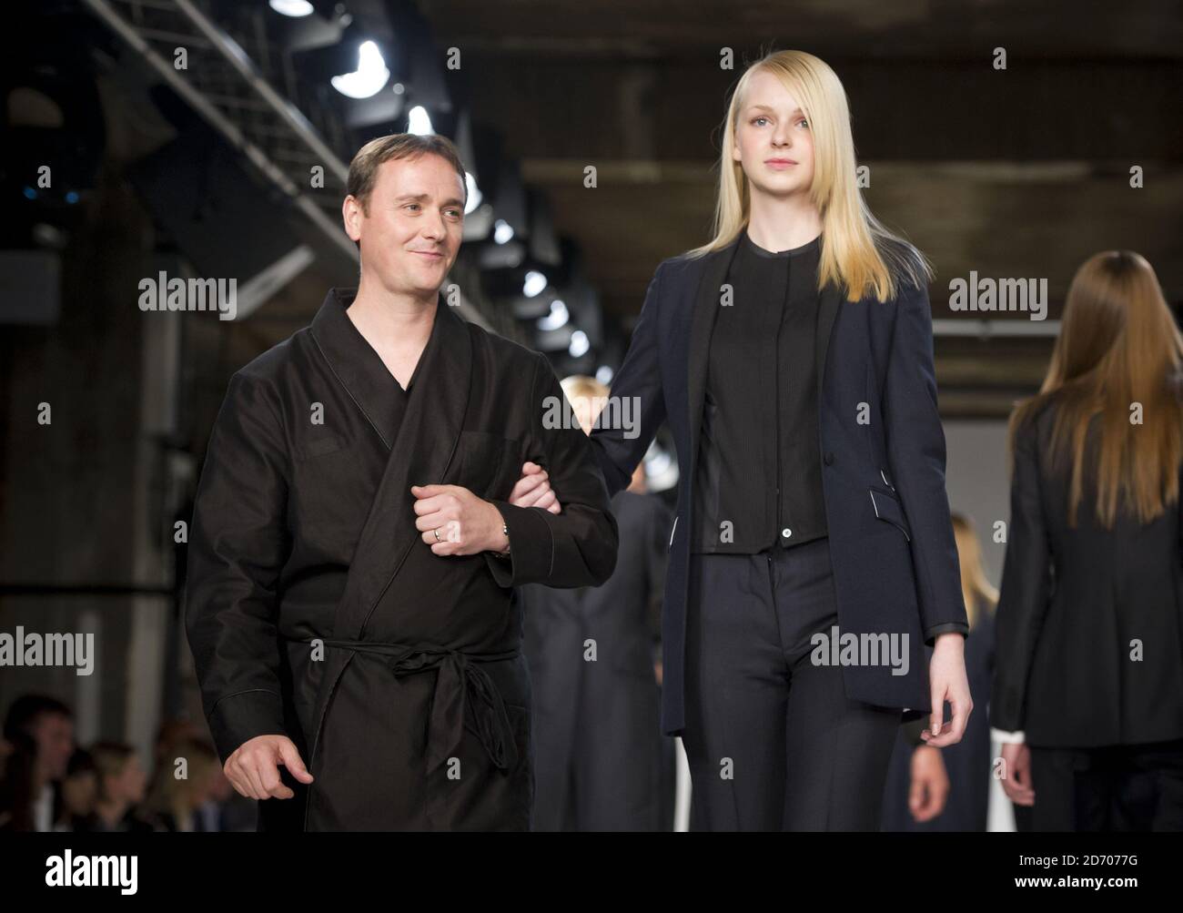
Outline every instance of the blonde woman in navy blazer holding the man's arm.
<path id="1" fill-rule="evenodd" d="M 592 434 L 609 492 L 661 422 L 677 442 L 662 729 L 696 829 L 874 830 L 901 717 L 965 730 L 926 278 L 862 202 L 833 70 L 749 67 L 715 237 L 658 267 L 613 381 L 640 433 Z"/>

